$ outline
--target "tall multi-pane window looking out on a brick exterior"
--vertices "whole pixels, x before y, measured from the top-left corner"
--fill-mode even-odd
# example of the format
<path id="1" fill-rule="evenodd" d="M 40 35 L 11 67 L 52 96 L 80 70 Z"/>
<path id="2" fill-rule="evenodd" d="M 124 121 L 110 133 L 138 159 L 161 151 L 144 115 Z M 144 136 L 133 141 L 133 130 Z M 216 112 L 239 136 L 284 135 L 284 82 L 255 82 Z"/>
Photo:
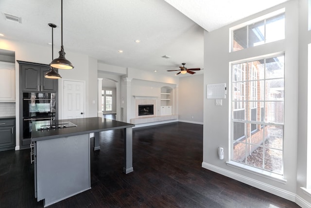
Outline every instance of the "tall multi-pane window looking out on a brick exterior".
<path id="1" fill-rule="evenodd" d="M 233 63 L 232 160 L 283 174 L 284 55 Z"/>

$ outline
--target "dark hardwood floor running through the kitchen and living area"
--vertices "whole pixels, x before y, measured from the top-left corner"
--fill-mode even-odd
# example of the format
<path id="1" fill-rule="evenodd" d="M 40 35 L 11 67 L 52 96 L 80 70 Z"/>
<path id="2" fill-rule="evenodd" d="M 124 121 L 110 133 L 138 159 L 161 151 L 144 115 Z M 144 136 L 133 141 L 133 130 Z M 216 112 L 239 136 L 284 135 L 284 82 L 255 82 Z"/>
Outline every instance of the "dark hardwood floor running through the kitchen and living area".
<path id="1" fill-rule="evenodd" d="M 134 172 L 129 174 L 122 173 L 122 131 L 101 132 L 100 145 L 100 151 L 91 151 L 92 189 L 50 208 L 299 207 L 203 169 L 202 125 L 176 122 L 133 129 Z M 34 195 L 30 150 L 0 152 L 0 208 L 41 207 Z"/>

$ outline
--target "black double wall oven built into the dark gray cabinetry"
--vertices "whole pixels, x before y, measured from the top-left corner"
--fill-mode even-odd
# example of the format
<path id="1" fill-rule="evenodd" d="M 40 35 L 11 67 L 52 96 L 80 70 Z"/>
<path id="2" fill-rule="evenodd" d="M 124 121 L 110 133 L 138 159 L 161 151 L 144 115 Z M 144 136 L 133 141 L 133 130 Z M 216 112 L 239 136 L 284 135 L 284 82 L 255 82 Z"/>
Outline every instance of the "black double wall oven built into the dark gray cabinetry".
<path id="1" fill-rule="evenodd" d="M 31 138 L 33 121 L 56 119 L 56 93 L 23 93 L 23 138 Z"/>

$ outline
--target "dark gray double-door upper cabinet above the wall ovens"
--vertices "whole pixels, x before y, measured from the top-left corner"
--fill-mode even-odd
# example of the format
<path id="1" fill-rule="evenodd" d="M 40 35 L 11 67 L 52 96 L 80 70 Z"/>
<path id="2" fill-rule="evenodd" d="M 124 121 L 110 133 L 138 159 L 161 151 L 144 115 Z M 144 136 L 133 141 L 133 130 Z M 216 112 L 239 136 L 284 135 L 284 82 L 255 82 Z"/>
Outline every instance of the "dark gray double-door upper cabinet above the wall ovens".
<path id="1" fill-rule="evenodd" d="M 50 70 L 47 64 L 17 61 L 19 63 L 20 84 L 23 92 L 56 92 L 57 80 L 45 78 Z"/>

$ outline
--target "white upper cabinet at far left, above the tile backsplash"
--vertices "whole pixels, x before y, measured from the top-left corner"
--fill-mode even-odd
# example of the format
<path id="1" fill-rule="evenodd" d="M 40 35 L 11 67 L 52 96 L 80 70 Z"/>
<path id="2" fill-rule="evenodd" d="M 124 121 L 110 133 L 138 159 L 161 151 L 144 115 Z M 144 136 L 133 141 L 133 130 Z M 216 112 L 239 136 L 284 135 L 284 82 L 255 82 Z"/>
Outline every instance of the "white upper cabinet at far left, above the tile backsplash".
<path id="1" fill-rule="evenodd" d="M 15 63 L 0 61 L 0 102 L 15 102 Z"/>

